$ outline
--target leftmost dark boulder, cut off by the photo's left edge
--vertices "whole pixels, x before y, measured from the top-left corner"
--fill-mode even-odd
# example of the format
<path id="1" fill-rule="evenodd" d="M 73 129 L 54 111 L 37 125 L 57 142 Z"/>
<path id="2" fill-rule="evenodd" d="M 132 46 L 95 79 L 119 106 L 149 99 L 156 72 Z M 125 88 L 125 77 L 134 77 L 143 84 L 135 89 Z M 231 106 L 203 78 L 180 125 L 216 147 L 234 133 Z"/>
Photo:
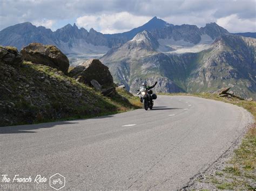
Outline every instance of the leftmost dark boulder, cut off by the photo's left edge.
<path id="1" fill-rule="evenodd" d="M 0 62 L 11 66 L 21 66 L 22 55 L 15 47 L 1 47 L 0 46 Z"/>

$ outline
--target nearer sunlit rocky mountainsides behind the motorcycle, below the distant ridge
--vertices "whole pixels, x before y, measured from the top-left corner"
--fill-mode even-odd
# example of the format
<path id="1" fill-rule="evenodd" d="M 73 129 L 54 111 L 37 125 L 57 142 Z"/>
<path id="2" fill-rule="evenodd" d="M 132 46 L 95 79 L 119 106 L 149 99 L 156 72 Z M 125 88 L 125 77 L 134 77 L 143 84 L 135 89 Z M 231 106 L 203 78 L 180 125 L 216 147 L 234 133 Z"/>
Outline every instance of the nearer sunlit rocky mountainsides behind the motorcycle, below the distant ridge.
<path id="1" fill-rule="evenodd" d="M 160 82 L 156 90 L 161 92 L 196 93 L 231 86 L 238 95 L 255 97 L 255 39 L 224 31 L 203 51 L 178 54 L 159 52 L 160 45 L 149 32 L 139 33 L 137 38 L 139 44 L 132 39 L 101 59 L 114 80 L 129 86 L 130 91 L 154 78 Z"/>

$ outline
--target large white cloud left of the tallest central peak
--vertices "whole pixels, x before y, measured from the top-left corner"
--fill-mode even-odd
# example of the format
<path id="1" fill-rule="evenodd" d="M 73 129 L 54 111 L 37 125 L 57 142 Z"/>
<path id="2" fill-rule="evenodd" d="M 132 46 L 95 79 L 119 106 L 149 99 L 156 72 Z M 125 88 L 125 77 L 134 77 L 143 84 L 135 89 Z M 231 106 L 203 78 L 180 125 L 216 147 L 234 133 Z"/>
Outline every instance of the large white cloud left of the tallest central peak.
<path id="1" fill-rule="evenodd" d="M 152 17 L 134 16 L 129 12 L 103 13 L 99 16 L 83 16 L 76 24 L 89 30 L 91 27 L 104 34 L 125 32 L 148 22 Z"/>

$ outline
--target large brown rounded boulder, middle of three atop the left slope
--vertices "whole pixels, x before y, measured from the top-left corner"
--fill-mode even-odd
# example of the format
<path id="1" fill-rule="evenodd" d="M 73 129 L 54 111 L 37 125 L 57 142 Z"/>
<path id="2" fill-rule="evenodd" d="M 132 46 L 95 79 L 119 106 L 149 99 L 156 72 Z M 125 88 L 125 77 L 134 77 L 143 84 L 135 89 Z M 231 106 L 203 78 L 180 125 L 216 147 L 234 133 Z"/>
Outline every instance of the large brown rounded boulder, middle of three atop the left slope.
<path id="1" fill-rule="evenodd" d="M 68 74 L 69 59 L 56 46 L 31 43 L 22 48 L 24 60 L 50 66 Z"/>

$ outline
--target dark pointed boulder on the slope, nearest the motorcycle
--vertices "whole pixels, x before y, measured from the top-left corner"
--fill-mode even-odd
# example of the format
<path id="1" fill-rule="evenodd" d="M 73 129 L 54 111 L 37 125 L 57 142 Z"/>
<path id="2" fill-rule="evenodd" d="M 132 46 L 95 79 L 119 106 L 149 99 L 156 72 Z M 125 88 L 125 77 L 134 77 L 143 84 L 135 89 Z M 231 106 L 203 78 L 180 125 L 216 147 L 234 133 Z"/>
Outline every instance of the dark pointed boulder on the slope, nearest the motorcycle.
<path id="1" fill-rule="evenodd" d="M 82 65 L 76 66 L 69 72 L 69 76 L 88 85 L 92 80 L 96 80 L 103 88 L 113 86 L 113 77 L 109 68 L 98 59 L 87 60 Z"/>

